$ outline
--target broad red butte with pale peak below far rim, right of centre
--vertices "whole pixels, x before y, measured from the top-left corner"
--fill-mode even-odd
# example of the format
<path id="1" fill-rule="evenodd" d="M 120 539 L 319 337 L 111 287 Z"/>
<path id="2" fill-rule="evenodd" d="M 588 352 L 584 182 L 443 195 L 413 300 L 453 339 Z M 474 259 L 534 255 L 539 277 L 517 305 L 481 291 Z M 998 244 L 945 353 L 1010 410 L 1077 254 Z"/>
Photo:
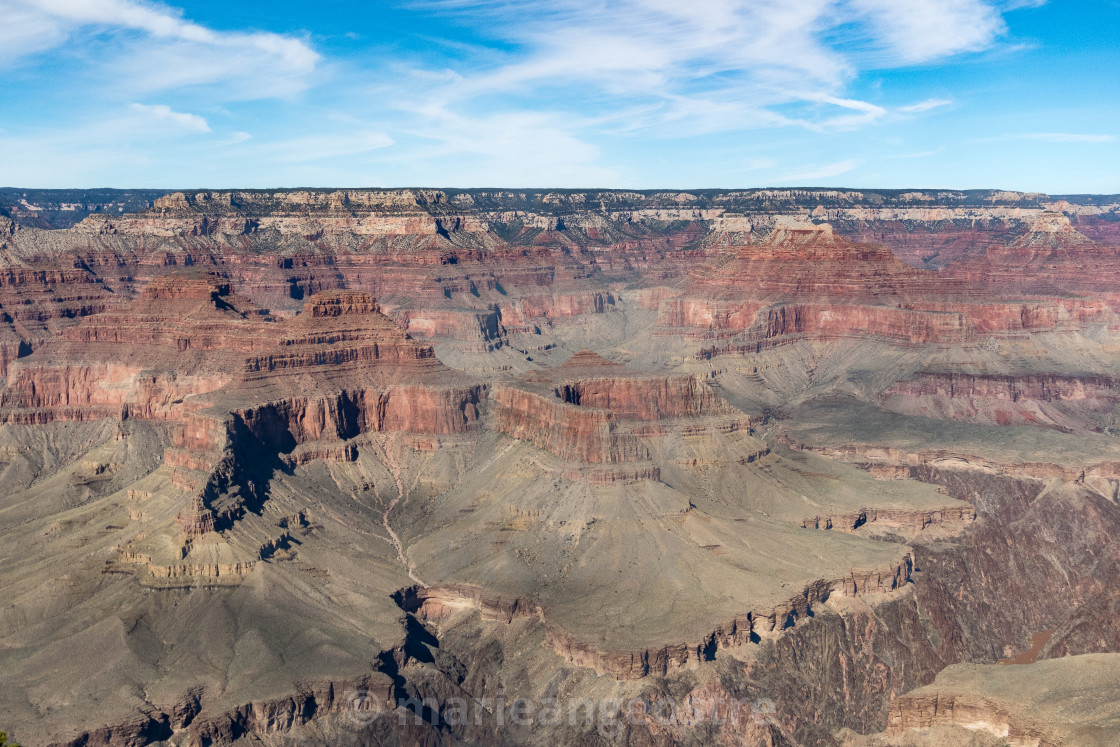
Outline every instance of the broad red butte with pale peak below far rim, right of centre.
<path id="1" fill-rule="evenodd" d="M 767 243 L 729 251 L 721 264 L 696 272 L 682 297 L 661 302 L 656 334 L 722 340 L 701 351 L 710 356 L 805 337 L 964 343 L 1109 317 L 1099 301 L 992 302 L 980 286 L 915 270 L 885 248 L 850 244 L 827 227 L 775 230 Z"/>

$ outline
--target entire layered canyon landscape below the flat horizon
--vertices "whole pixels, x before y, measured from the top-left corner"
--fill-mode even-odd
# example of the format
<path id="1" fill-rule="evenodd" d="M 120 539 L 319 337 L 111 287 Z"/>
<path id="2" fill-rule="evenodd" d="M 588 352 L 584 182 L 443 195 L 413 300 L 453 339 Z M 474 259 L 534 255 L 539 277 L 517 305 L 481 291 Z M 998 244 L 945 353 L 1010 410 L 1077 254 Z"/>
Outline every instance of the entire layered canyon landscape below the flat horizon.
<path id="1" fill-rule="evenodd" d="M 21 744 L 1120 744 L 1120 197 L 8 193 Z"/>

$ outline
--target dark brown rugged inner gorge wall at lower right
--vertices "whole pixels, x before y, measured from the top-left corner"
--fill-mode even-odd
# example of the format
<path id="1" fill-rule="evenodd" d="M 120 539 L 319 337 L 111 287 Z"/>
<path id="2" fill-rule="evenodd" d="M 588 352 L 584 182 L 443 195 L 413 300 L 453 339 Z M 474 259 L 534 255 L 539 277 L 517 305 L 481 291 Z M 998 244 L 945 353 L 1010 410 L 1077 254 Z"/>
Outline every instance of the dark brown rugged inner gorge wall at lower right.
<path id="1" fill-rule="evenodd" d="M 1064 739 L 1070 739 L 1077 732 L 1047 730 L 1063 719 L 1054 718 L 1053 712 L 1032 719 L 1035 708 L 1023 707 L 1053 697 L 1053 680 L 1039 679 L 1027 671 L 1029 667 L 995 662 L 1024 650 L 1033 632 L 1076 616 L 1075 610 L 1094 598 L 1093 587 L 1105 582 L 1114 555 L 1100 531 L 1101 522 L 1111 525 L 1120 513 L 1108 502 L 1083 501 L 1073 494 L 1044 495 L 1040 480 L 977 469 L 931 470 L 922 479 L 944 485 L 954 495 L 970 496 L 977 521 L 964 534 L 965 545 L 949 550 L 936 541 L 920 544 L 913 596 L 893 599 L 874 610 L 819 616 L 815 629 L 795 629 L 774 643 L 752 667 L 753 684 L 767 692 L 783 692 L 791 700 L 816 703 L 810 709 L 791 709 L 797 716 L 791 715 L 786 723 L 800 744 L 827 744 L 819 723 L 833 717 L 824 713 L 841 715 L 831 722 L 857 732 L 889 729 L 894 735 L 879 739 L 849 734 L 842 741 L 862 747 L 956 744 L 950 740 L 951 734 L 935 730 L 953 725 L 980 727 L 1004 739 L 1033 731 L 1052 739 L 1064 732 Z M 1095 558 L 1090 559 L 1096 553 L 1109 560 L 1098 564 Z M 1051 561 L 1038 562 L 1044 557 L 1054 564 L 1046 568 Z M 1001 570 L 996 571 L 997 567 Z M 1066 579 L 1064 571 L 1051 576 L 1057 568 L 1074 567 L 1079 568 L 1076 578 Z M 1033 591 L 1024 583 L 1027 578 L 1047 594 Z M 1072 653 L 1085 651 L 1092 650 Z M 825 660 L 828 663 L 822 663 Z M 1023 670 L 1024 687 L 1010 700 L 1000 688 L 979 682 L 963 694 L 952 685 L 940 687 L 940 676 L 936 684 L 921 687 L 933 682 L 948 664 L 962 661 L 988 662 L 989 666 L 977 669 L 1007 674 Z M 1054 660 L 1053 664 L 1060 661 L 1068 660 Z M 1101 684 L 1102 693 L 1110 692 L 1111 685 Z M 930 734 L 923 741 L 925 731 Z M 1067 744 L 1109 744 L 1079 740 L 1083 738 L 1073 737 Z"/>

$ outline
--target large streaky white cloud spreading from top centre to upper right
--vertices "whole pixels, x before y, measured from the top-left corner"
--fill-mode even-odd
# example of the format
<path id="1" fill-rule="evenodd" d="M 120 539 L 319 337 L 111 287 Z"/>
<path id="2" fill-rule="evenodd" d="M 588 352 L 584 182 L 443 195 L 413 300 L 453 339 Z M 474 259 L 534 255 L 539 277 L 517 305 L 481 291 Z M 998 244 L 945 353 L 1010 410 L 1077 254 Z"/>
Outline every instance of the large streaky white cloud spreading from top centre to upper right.
<path id="1" fill-rule="evenodd" d="M 800 125 L 850 130 L 888 111 L 844 95 L 861 68 L 997 43 L 984 0 L 419 0 L 506 43 L 475 66 L 404 73 L 403 97 L 468 111 L 494 96 L 554 94 L 616 131 L 662 137 Z M 398 96 L 394 96 L 398 97 Z M 822 104 L 802 115 L 776 108 Z M 903 113 L 948 105 L 931 99 Z M 837 109 L 847 110 L 837 113 Z"/>

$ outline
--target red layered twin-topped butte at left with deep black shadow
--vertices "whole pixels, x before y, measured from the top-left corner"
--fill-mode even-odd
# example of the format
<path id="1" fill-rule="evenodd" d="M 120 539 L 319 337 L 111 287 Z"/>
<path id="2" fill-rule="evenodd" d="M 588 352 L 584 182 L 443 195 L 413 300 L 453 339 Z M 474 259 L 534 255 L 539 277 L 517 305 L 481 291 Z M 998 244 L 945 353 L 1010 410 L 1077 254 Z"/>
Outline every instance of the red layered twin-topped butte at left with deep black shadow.
<path id="1" fill-rule="evenodd" d="M 235 520 L 255 495 L 246 477 L 255 460 L 306 442 L 326 452 L 324 442 L 366 431 L 463 432 L 477 427 L 483 396 L 368 295 L 321 293 L 279 321 L 222 279 L 190 272 L 13 364 L 0 418 L 168 421 L 164 461 L 172 484 L 194 495 L 177 521 L 197 535 Z"/>

